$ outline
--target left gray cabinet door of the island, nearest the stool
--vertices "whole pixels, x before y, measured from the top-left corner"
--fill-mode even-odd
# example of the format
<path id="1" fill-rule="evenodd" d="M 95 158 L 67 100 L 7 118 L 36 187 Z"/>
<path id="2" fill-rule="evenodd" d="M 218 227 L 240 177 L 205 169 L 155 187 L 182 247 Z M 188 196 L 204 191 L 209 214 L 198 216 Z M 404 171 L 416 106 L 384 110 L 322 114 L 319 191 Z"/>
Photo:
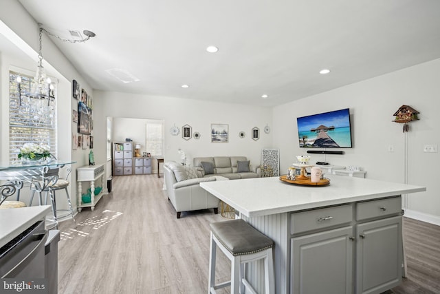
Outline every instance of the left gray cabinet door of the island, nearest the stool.
<path id="1" fill-rule="evenodd" d="M 294 294 L 353 293 L 353 227 L 292 238 Z"/>

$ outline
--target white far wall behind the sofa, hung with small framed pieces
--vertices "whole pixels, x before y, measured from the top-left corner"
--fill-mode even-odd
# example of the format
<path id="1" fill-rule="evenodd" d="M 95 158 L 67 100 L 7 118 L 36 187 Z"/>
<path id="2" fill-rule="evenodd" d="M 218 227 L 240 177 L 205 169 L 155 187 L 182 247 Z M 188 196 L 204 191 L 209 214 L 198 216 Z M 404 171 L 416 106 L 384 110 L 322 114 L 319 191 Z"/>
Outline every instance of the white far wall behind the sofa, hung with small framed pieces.
<path id="1" fill-rule="evenodd" d="M 117 92 L 94 91 L 94 143 L 97 162 L 104 162 L 105 157 L 98 150 L 105 150 L 106 117 L 143 118 L 164 120 L 164 160 L 180 161 L 177 149 L 181 148 L 188 155 L 188 163 L 197 156 L 248 156 L 252 165 L 261 162 L 261 149 L 272 147 L 272 133 L 265 134 L 263 128 L 272 124 L 272 109 L 251 105 L 213 103 L 190 99 L 153 97 L 147 95 Z M 211 123 L 229 125 L 228 143 L 211 143 Z M 116 120 L 113 121 L 116 124 Z M 173 125 L 181 128 L 190 125 L 192 132 L 199 132 L 196 140 L 184 140 L 181 134 L 172 136 Z M 252 140 L 251 129 L 259 127 L 259 140 Z M 245 132 L 245 138 L 239 138 L 239 132 Z M 144 132 L 144 131 L 142 131 Z M 143 134 L 142 134 L 143 135 Z M 136 136 L 126 128 L 126 136 L 118 134 L 119 140 Z M 116 139 L 116 138 L 115 138 Z M 154 163 L 153 163 L 154 165 Z"/>

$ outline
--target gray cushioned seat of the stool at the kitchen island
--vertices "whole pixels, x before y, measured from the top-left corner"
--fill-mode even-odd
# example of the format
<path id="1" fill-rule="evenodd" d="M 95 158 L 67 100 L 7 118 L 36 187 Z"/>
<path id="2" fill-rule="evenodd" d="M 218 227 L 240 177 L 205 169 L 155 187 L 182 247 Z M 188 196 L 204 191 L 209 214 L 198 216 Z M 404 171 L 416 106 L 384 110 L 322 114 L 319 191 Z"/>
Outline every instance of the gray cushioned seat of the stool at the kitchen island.
<path id="1" fill-rule="evenodd" d="M 252 254 L 274 246 L 272 239 L 241 219 L 214 222 L 210 227 L 212 233 L 233 256 Z"/>

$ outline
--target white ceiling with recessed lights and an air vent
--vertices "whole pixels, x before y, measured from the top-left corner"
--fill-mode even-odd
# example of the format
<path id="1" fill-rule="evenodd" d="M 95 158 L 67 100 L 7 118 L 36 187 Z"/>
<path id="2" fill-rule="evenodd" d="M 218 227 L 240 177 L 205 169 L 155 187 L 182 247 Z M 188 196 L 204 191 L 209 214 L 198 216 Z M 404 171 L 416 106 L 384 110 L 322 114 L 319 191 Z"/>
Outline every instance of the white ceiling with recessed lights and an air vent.
<path id="1" fill-rule="evenodd" d="M 19 1 L 47 30 L 96 33 L 53 39 L 96 90 L 272 106 L 440 58 L 438 0 Z"/>

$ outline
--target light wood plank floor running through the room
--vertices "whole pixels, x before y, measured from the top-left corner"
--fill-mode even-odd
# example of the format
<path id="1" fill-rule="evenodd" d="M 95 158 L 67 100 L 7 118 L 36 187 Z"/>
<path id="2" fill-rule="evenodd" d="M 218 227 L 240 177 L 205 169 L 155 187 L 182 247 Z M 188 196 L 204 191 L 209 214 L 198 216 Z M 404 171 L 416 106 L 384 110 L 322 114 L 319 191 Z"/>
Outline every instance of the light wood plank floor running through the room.
<path id="1" fill-rule="evenodd" d="M 94 211 L 59 226 L 58 293 L 206 293 L 212 210 L 176 212 L 157 175 L 113 177 Z M 440 227 L 404 220 L 408 278 L 388 293 L 440 293 Z M 230 262 L 217 255 L 217 279 Z M 219 293 L 229 293 L 226 288 Z"/>

